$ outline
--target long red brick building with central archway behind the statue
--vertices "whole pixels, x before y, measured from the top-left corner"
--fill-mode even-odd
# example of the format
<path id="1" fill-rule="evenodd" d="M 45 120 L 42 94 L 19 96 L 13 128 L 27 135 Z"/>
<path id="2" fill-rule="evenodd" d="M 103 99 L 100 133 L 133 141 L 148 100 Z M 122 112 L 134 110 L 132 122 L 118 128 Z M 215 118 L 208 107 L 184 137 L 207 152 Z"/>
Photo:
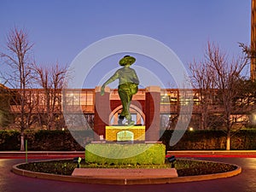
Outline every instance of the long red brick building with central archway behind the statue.
<path id="1" fill-rule="evenodd" d="M 11 90 L 12 92 L 19 92 L 19 90 Z M 209 103 L 207 113 L 212 116 L 218 117 L 223 112 L 223 105 L 219 102 L 218 90 L 208 90 L 211 95 L 211 102 Z M 151 92 L 151 93 L 150 93 Z M 183 98 L 181 95 L 188 92 L 192 94 L 188 99 Z M 84 114 L 85 119 L 93 120 L 96 122 L 94 125 L 116 125 L 118 113 L 122 108 L 119 100 L 117 90 L 107 90 L 105 96 L 100 96 L 96 89 L 82 89 L 82 90 L 65 90 L 62 92 L 58 90 L 58 100 L 56 102 L 55 113 L 62 113 L 65 110 L 66 113 L 72 113 L 75 117 L 80 113 Z M 29 101 L 34 103 L 32 113 L 44 114 L 46 111 L 46 101 L 44 90 L 31 89 L 26 90 L 26 96 Z M 96 102 L 98 100 L 99 102 Z M 157 106 L 154 104 L 158 102 Z M 146 125 L 149 127 L 152 124 L 160 125 L 160 129 L 173 129 L 175 119 L 180 112 L 182 106 L 187 105 L 189 102 L 193 102 L 192 119 L 189 126 L 194 129 L 202 129 L 201 127 L 201 97 L 200 90 L 177 90 L 177 89 L 158 89 L 158 90 L 146 90 L 140 89 L 137 94 L 133 96 L 131 102 L 131 115 L 132 119 L 136 121 L 136 124 Z M 11 104 L 10 113 L 18 114 L 19 103 L 13 102 Z M 237 104 L 237 103 L 236 103 Z M 238 108 L 233 112 L 234 122 L 247 122 L 250 119 L 251 123 L 256 123 L 255 115 L 252 113 L 255 109 L 254 99 L 248 98 L 244 108 Z M 65 106 L 65 108 L 63 108 Z M 96 108 L 104 112 L 100 114 L 96 112 Z M 159 116 L 154 113 L 159 113 Z M 101 116 L 97 118 L 97 115 Z M 154 119 L 154 118 L 155 119 Z M 153 121 L 154 119 L 154 121 Z M 255 121 L 255 122 L 254 122 Z M 79 127 L 79 121 L 74 121 Z"/>

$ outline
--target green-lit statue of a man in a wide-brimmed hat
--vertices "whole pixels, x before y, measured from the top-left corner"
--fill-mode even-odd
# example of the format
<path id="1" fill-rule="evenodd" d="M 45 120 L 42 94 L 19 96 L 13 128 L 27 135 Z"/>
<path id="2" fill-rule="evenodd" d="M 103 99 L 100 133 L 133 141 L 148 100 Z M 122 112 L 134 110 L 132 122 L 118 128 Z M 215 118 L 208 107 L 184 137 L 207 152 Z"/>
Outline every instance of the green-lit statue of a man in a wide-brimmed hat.
<path id="1" fill-rule="evenodd" d="M 139 79 L 137 78 L 137 73 L 131 68 L 131 65 L 136 61 L 136 59 L 130 55 L 125 55 L 119 61 L 119 68 L 112 77 L 110 77 L 104 84 L 102 84 L 101 94 L 104 95 L 105 86 L 110 84 L 116 79 L 119 79 L 119 97 L 121 99 L 123 110 L 119 114 L 119 125 L 122 125 L 124 119 L 127 120 L 128 125 L 134 125 L 134 121 L 131 120 L 130 104 L 132 96 L 137 93 L 137 86 L 139 84 Z"/>

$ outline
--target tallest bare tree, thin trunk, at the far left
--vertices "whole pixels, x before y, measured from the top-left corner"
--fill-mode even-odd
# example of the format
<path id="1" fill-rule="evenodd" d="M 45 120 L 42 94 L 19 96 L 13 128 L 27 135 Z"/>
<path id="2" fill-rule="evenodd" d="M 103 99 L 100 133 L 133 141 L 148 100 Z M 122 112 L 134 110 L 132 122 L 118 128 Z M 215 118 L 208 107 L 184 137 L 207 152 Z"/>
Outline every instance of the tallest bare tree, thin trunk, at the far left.
<path id="1" fill-rule="evenodd" d="M 35 104 L 26 91 L 32 85 L 32 46 L 27 32 L 15 27 L 7 35 L 6 51 L 0 54 L 5 66 L 9 67 L 3 78 L 8 81 L 10 87 L 16 89 L 12 91 L 11 96 L 15 110 L 18 111 L 15 125 L 20 130 L 20 150 L 24 150 L 24 131 L 32 125 L 32 108 Z"/>

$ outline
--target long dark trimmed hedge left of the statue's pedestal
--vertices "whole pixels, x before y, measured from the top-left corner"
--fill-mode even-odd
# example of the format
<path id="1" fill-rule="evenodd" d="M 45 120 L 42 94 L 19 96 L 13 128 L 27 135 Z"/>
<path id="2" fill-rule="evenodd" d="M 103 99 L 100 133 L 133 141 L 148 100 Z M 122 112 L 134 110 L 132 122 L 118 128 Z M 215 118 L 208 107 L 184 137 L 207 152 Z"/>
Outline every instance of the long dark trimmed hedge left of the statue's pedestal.
<path id="1" fill-rule="evenodd" d="M 92 131 L 75 131 L 79 142 L 90 143 Z M 84 151 L 69 131 L 26 131 L 27 148 L 31 151 Z M 20 150 L 19 131 L 0 131 L 0 150 Z"/>

